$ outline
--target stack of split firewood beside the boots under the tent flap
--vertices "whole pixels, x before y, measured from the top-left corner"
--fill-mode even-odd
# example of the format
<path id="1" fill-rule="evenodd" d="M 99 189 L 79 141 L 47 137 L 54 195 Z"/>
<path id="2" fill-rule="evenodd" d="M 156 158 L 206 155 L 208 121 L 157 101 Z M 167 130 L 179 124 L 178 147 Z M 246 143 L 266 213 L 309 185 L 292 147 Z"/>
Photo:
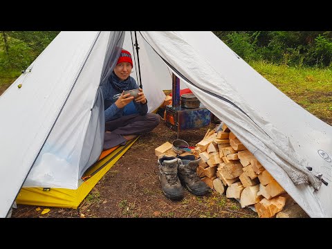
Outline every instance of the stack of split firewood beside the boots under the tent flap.
<path id="1" fill-rule="evenodd" d="M 252 208 L 260 218 L 307 216 L 227 125 L 219 125 L 209 129 L 194 149 L 201 158 L 197 167 L 201 181 L 237 199 L 242 208 Z"/>

